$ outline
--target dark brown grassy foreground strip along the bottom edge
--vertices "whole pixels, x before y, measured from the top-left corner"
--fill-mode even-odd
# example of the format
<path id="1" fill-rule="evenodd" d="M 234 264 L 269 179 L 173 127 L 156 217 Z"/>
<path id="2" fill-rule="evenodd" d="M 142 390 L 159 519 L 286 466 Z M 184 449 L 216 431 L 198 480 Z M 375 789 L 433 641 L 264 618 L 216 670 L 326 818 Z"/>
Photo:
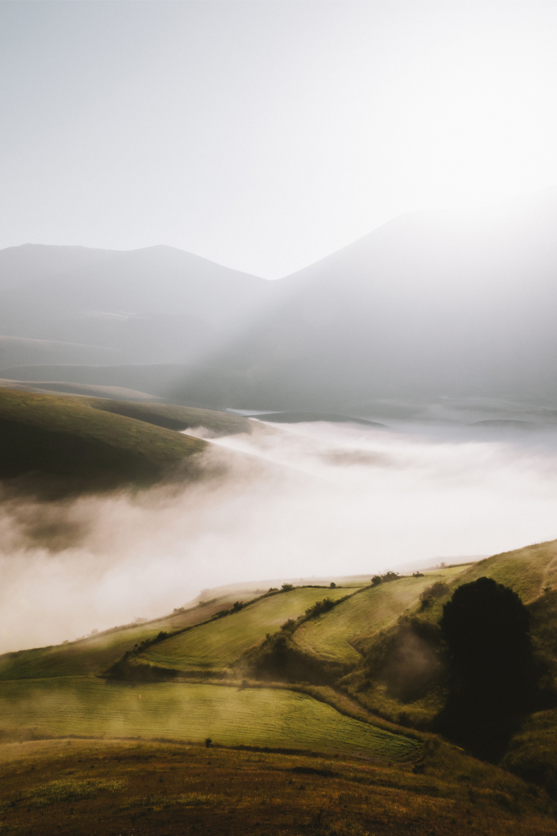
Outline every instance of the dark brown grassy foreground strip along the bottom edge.
<path id="1" fill-rule="evenodd" d="M 50 836 L 545 836 L 543 793 L 441 745 L 417 774 L 351 757 L 180 743 L 0 746 L 6 833 Z"/>

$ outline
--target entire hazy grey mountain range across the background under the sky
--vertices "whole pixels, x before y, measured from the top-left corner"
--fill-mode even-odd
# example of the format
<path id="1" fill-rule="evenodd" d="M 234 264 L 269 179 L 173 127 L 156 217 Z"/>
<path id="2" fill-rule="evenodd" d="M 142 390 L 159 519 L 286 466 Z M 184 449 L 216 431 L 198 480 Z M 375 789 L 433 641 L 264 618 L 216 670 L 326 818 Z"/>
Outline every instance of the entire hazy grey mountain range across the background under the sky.
<path id="1" fill-rule="evenodd" d="M 557 402 L 556 278 L 557 194 L 398 217 L 276 282 L 171 247 L 12 247 L 0 333 L 120 354 L 0 357 L 0 377 L 213 409 L 521 419 Z"/>

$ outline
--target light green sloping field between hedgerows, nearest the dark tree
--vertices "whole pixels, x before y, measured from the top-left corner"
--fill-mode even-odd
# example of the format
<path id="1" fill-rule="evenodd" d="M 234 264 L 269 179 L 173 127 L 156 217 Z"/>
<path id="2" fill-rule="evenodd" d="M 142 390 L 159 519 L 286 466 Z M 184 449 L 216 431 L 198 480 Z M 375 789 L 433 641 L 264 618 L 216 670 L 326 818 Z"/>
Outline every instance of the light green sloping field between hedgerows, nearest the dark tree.
<path id="1" fill-rule="evenodd" d="M 307 621 L 294 634 L 301 650 L 326 660 L 352 662 L 362 656 L 352 646 L 359 636 L 382 630 L 416 604 L 423 589 L 437 580 L 450 583 L 464 568 L 439 569 L 423 578 L 401 578 L 372 589 L 364 589 L 328 613 Z"/>

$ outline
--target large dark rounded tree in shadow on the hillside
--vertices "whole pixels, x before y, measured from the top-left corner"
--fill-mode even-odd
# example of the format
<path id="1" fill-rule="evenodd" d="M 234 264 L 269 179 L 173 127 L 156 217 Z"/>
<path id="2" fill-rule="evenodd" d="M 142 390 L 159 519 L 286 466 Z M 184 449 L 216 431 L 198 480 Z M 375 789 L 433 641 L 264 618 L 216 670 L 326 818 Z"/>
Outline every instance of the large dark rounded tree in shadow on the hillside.
<path id="1" fill-rule="evenodd" d="M 440 624 L 449 692 L 439 729 L 480 757 L 496 759 L 532 707 L 529 611 L 509 587 L 479 578 L 455 590 Z"/>

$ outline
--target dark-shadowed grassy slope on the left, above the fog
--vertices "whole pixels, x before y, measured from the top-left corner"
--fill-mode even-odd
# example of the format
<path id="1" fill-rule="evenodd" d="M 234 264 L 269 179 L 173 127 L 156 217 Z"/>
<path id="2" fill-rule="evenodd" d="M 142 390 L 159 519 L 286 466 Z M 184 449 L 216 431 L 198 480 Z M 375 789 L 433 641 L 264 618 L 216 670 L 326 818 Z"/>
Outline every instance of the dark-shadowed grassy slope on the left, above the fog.
<path id="1" fill-rule="evenodd" d="M 149 484 L 206 442 L 94 409 L 79 397 L 0 390 L 0 477 L 46 474 L 82 490 Z"/>

